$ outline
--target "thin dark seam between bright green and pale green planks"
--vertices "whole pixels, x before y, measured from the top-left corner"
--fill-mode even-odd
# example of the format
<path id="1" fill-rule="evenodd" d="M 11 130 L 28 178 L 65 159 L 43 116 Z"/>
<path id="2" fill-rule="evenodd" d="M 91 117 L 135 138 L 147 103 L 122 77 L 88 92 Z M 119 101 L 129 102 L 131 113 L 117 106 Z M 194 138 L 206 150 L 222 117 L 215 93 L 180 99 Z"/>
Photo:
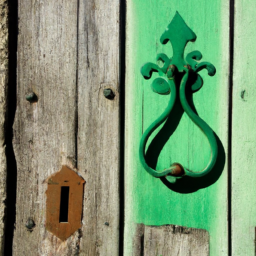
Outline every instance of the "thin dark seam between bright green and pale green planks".
<path id="1" fill-rule="evenodd" d="M 234 5 L 229 2 L 229 94 L 228 94 L 228 255 L 232 255 L 232 108 L 234 69 Z"/>

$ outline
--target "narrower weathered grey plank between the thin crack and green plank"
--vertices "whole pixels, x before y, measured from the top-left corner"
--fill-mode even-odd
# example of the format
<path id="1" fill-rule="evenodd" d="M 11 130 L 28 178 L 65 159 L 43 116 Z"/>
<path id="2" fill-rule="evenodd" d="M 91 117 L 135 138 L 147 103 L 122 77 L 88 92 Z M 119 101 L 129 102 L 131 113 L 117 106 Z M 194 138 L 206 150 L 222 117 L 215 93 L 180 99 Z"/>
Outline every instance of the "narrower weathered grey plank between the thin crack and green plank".
<path id="1" fill-rule="evenodd" d="M 78 169 L 86 180 L 81 255 L 119 255 L 119 1 L 80 1 Z M 103 90 L 111 88 L 113 100 Z"/>

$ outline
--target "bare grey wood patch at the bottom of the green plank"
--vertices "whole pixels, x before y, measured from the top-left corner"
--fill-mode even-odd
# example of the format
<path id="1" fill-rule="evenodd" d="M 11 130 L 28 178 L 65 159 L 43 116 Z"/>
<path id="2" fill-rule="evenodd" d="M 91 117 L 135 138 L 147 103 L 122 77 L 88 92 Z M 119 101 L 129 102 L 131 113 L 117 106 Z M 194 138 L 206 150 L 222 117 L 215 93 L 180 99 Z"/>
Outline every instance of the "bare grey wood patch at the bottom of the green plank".
<path id="1" fill-rule="evenodd" d="M 209 233 L 203 229 L 138 224 L 133 241 L 133 256 L 210 255 Z"/>

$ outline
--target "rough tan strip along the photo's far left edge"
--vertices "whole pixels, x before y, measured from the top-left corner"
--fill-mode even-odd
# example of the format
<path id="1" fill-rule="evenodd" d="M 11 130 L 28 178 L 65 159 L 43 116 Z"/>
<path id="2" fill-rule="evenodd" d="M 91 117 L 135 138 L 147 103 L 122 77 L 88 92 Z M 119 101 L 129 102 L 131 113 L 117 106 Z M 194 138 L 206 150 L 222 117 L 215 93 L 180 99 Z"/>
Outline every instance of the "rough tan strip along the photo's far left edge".
<path id="1" fill-rule="evenodd" d="M 6 199 L 5 127 L 8 85 L 8 3 L 0 1 L 0 255 L 4 255 L 4 224 Z"/>

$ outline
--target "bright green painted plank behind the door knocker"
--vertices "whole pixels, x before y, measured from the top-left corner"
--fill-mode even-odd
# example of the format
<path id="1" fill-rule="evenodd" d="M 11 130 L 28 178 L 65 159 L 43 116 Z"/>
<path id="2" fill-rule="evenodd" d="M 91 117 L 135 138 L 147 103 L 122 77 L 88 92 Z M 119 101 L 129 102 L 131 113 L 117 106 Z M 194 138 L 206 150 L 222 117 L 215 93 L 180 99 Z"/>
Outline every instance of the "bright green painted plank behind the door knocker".
<path id="1" fill-rule="evenodd" d="M 228 6 L 224 0 L 127 1 L 125 255 L 132 255 L 136 223 L 206 229 L 211 255 L 227 255 Z M 200 117 L 219 137 L 220 154 L 213 175 L 170 189 L 143 170 L 139 161 L 142 133 L 164 111 L 170 97 L 153 93 L 151 81 L 143 79 L 140 68 L 146 62 L 155 62 L 158 53 L 172 56 L 171 45 L 162 45 L 159 39 L 176 11 L 197 35 L 186 53 L 200 50 L 203 60 L 217 69 L 214 77 L 202 72 L 204 86 L 193 100 Z M 158 131 L 151 136 L 148 148 L 149 161 L 157 169 L 179 162 L 200 171 L 208 163 L 210 148 L 206 138 L 179 106 Z M 152 141 L 157 133 L 158 139 Z"/>

